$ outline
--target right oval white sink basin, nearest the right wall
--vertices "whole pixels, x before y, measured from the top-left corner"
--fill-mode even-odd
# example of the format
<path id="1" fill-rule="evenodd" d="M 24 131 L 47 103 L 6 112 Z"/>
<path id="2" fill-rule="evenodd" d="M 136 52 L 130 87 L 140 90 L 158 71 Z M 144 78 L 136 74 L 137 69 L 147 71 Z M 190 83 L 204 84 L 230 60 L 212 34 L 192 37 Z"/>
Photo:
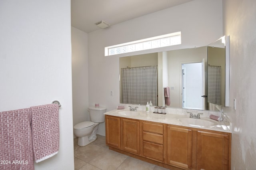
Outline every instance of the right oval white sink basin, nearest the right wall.
<path id="1" fill-rule="evenodd" d="M 181 123 L 191 125 L 191 126 L 196 126 L 196 127 L 214 127 L 218 125 L 216 121 L 205 119 L 205 118 L 193 119 L 193 118 L 186 117 L 186 118 L 179 118 L 178 121 L 180 121 Z"/>

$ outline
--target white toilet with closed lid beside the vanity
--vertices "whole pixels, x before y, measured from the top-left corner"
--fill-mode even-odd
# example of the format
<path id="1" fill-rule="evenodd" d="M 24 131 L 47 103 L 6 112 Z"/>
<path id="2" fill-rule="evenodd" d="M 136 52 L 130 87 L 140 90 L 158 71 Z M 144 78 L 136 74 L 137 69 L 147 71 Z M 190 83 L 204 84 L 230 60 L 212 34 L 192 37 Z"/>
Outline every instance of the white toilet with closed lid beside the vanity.
<path id="1" fill-rule="evenodd" d="M 98 125 L 105 121 L 105 107 L 90 106 L 88 111 L 91 121 L 81 122 L 74 126 L 74 134 L 78 137 L 79 146 L 86 146 L 96 140 Z"/>

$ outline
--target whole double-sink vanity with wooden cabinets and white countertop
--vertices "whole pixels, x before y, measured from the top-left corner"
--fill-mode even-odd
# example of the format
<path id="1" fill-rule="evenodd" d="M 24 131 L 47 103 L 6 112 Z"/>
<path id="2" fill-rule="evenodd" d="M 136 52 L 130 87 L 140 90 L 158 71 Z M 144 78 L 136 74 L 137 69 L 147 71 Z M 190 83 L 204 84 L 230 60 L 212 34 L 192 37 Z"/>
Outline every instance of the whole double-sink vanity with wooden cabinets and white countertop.
<path id="1" fill-rule="evenodd" d="M 105 114 L 109 149 L 172 170 L 230 170 L 227 123 L 185 114 L 112 110 Z"/>

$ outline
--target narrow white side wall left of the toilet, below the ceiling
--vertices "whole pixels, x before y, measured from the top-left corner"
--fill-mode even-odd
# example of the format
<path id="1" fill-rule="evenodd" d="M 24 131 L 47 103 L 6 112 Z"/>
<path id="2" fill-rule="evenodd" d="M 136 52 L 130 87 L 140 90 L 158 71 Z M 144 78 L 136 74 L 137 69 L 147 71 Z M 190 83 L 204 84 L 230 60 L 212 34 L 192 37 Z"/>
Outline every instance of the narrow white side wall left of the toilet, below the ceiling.
<path id="1" fill-rule="evenodd" d="M 71 27 L 73 125 L 90 121 L 88 97 L 88 37 Z"/>

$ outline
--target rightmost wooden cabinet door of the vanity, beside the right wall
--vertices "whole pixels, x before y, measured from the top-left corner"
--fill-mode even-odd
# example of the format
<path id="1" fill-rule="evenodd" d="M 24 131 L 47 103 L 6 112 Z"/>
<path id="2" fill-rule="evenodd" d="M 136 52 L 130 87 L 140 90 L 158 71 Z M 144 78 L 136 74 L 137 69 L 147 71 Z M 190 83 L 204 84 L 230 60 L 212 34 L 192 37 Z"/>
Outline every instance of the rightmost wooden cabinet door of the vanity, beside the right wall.
<path id="1" fill-rule="evenodd" d="M 196 169 L 228 170 L 229 133 L 197 131 Z"/>

